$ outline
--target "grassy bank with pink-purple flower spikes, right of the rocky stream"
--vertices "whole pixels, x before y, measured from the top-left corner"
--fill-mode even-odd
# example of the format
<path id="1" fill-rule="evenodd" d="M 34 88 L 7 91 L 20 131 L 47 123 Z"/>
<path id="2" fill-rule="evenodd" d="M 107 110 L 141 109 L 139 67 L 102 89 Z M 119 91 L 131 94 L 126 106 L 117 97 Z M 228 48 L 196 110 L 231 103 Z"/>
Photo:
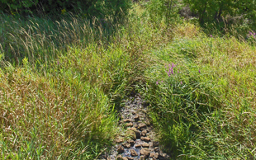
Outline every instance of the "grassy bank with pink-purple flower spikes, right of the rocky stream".
<path id="1" fill-rule="evenodd" d="M 184 23 L 150 53 L 145 96 L 177 159 L 255 158 L 255 47 Z"/>

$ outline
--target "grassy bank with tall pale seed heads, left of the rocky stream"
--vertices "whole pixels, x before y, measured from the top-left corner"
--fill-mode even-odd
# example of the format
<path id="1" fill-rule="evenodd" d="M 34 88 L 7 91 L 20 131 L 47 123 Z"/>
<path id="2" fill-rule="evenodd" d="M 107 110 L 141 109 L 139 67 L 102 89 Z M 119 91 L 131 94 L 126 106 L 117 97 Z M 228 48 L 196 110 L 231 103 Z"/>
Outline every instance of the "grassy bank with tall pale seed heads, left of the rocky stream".
<path id="1" fill-rule="evenodd" d="M 138 8 L 125 24 L 1 15 L 2 159 L 93 159 L 111 146 L 142 54 L 172 38 Z"/>

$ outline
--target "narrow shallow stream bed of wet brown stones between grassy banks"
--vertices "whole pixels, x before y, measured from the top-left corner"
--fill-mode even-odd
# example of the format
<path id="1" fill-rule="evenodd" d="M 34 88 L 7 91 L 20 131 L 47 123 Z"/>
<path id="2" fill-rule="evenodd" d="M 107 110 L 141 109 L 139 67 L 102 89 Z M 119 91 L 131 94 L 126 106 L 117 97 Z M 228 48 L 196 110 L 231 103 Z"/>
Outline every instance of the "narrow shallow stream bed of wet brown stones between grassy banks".
<path id="1" fill-rule="evenodd" d="M 169 155 L 162 152 L 153 126 L 150 124 L 145 101 L 139 94 L 126 100 L 121 108 L 120 125 L 125 133 L 115 139 L 116 145 L 103 153 L 101 160 L 167 160 Z"/>

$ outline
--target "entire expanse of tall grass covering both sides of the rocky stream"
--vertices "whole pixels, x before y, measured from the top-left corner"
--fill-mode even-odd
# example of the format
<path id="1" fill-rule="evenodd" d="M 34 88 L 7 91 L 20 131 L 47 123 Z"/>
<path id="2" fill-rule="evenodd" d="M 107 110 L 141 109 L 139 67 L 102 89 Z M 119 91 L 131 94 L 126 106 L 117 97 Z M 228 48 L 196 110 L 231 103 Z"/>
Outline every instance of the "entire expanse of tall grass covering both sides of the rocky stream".
<path id="1" fill-rule="evenodd" d="M 173 159 L 255 158 L 254 33 L 206 35 L 147 5 L 123 23 L 0 16 L 2 159 L 97 158 L 138 83 Z"/>

